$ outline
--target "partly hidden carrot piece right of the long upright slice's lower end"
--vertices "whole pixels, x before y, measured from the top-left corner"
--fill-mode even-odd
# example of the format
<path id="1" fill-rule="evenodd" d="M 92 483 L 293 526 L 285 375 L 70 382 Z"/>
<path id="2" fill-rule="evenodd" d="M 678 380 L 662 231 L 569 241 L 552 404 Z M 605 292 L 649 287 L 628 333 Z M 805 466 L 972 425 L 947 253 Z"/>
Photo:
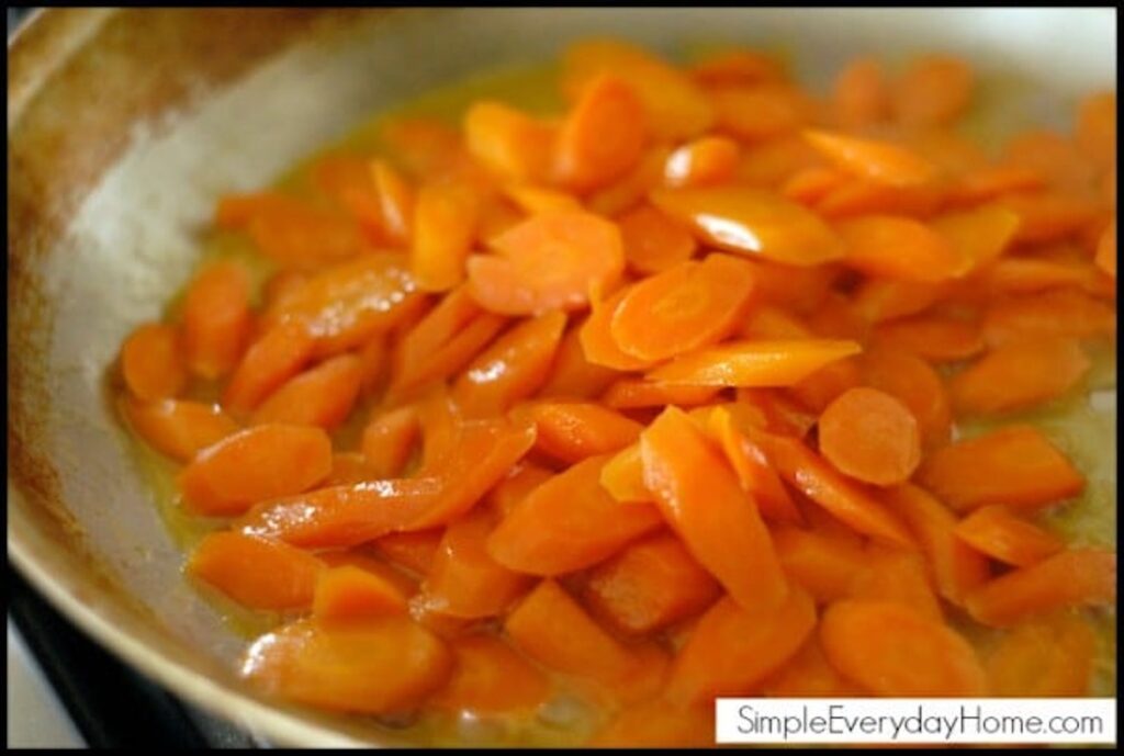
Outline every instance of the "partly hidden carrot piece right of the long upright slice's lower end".
<path id="1" fill-rule="evenodd" d="M 824 530 L 780 527 L 773 543 L 788 579 L 821 603 L 844 598 L 865 565 L 861 545 Z"/>

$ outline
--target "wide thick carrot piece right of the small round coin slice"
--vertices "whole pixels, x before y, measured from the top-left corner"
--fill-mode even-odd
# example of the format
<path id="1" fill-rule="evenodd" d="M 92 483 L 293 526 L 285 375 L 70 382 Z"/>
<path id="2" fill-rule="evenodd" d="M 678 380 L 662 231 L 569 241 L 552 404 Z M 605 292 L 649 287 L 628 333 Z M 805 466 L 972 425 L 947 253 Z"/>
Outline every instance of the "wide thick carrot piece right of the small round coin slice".
<path id="1" fill-rule="evenodd" d="M 1076 495 L 1085 479 L 1035 428 L 1012 425 L 926 457 L 917 481 L 957 511 L 1036 509 Z"/>

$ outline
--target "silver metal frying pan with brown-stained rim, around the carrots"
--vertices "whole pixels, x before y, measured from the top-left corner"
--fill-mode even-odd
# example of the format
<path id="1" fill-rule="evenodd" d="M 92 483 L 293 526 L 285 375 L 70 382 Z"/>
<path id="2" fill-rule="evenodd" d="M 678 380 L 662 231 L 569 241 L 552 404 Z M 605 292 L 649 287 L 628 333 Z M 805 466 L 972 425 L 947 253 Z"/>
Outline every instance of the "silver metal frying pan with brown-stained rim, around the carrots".
<path id="1" fill-rule="evenodd" d="M 187 700 L 293 745 L 401 732 L 256 695 L 243 641 L 182 554 L 108 393 L 121 339 L 189 277 L 216 197 L 269 183 L 365 116 L 481 67 L 610 34 L 746 42 L 803 79 L 856 54 L 946 49 L 1064 127 L 1114 89 L 1112 9 L 106 10 L 37 13 L 8 62 L 8 554 L 79 627 Z M 408 738 L 406 738 L 408 739 Z"/>

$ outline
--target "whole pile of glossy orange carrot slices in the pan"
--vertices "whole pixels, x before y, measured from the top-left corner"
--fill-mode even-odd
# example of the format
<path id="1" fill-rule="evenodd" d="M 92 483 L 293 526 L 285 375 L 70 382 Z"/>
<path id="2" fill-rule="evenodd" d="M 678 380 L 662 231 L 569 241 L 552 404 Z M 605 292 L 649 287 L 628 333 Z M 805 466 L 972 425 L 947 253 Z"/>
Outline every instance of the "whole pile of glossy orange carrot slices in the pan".
<path id="1" fill-rule="evenodd" d="M 564 112 L 224 197 L 274 272 L 206 266 L 120 372 L 215 523 L 189 575 L 281 612 L 242 672 L 377 716 L 578 692 L 601 745 L 708 744 L 718 695 L 1086 694 L 1116 555 L 1041 519 L 1086 479 L 1021 413 L 1114 345 L 1116 100 L 988 152 L 973 85 L 587 40 Z"/>

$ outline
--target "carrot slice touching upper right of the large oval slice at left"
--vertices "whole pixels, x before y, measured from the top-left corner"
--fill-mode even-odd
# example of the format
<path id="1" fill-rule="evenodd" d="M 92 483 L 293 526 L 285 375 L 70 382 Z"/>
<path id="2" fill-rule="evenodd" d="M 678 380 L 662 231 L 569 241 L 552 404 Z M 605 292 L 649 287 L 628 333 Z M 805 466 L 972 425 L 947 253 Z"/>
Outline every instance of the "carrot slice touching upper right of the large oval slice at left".
<path id="1" fill-rule="evenodd" d="M 255 425 L 284 422 L 333 430 L 351 413 L 359 398 L 359 357 L 333 357 L 290 379 L 254 410 Z"/>

